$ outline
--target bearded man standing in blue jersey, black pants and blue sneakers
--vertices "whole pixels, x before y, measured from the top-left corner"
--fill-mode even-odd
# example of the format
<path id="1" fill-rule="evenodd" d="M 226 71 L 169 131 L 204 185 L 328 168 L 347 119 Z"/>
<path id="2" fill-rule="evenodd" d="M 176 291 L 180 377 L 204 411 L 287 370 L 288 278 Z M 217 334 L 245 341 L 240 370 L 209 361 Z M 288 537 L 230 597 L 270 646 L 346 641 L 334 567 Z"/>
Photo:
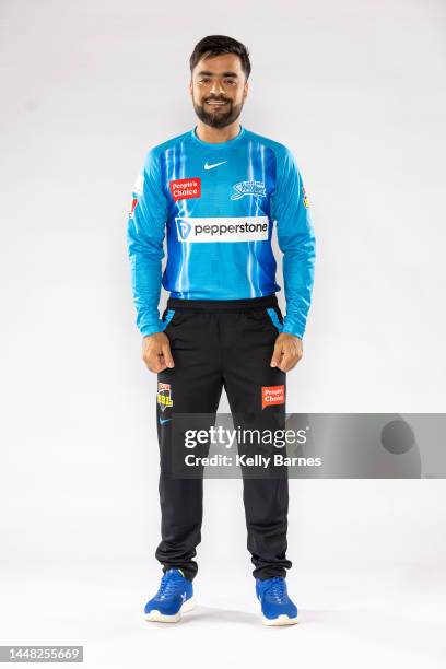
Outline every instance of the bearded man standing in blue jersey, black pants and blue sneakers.
<path id="1" fill-rule="evenodd" d="M 286 372 L 303 354 L 315 260 L 308 202 L 292 153 L 238 122 L 248 94 L 248 50 L 231 37 L 204 37 L 190 70 L 197 125 L 148 152 L 128 224 L 143 360 L 157 374 L 156 559 L 164 574 L 144 615 L 166 622 L 193 606 L 202 520 L 202 478 L 171 470 L 173 412 L 214 415 L 224 387 L 242 423 L 251 424 L 253 415 L 256 426 L 284 422 Z M 285 318 L 275 296 L 274 221 Z M 161 285 L 171 296 L 160 319 Z M 243 485 L 263 623 L 292 624 L 297 609 L 285 584 L 287 477 L 244 477 Z"/>

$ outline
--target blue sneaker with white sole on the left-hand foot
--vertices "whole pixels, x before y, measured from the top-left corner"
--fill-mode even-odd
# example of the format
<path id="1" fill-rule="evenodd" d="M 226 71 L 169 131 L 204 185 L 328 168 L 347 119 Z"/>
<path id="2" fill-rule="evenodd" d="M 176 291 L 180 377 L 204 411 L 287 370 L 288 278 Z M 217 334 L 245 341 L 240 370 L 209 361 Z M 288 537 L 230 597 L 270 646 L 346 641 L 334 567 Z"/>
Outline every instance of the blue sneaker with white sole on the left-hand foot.
<path id="1" fill-rule="evenodd" d="M 144 607 L 144 618 L 151 622 L 178 622 L 181 613 L 195 607 L 191 580 L 181 570 L 167 570 L 156 595 Z"/>

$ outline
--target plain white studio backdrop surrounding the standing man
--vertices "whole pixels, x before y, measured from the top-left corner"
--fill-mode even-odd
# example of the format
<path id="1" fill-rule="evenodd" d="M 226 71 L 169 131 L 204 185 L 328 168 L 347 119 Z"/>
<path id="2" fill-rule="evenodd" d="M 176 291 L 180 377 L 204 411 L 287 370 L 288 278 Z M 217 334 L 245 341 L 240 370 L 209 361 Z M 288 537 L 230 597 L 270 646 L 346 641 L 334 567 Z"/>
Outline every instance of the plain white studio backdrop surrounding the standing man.
<path id="1" fill-rule="evenodd" d="M 84 643 L 92 667 L 129 653 L 137 667 L 155 650 L 185 661 L 186 630 L 208 666 L 230 632 L 250 636 L 215 666 L 274 660 L 248 613 L 239 481 L 206 484 L 195 625 L 166 647 L 139 622 L 160 514 L 155 376 L 126 255 L 132 185 L 150 146 L 195 125 L 195 44 L 244 42 L 240 120 L 293 151 L 317 235 L 287 410 L 443 412 L 445 19 L 439 0 L 2 0 L 1 644 Z M 301 659 L 387 653 L 408 667 L 427 644 L 441 666 L 445 508 L 443 481 L 291 482 L 290 589 L 318 623 L 293 632 Z"/>

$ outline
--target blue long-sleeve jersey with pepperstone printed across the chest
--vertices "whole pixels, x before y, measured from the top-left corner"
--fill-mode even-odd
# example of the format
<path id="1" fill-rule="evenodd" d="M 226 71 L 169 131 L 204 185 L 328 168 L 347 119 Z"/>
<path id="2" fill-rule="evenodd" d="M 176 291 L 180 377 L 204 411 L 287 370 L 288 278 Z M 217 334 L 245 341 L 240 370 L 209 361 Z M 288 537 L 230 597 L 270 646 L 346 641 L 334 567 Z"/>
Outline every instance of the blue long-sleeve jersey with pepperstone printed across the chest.
<path id="1" fill-rule="evenodd" d="M 286 300 L 282 331 L 302 338 L 313 290 L 315 235 L 289 149 L 240 126 L 238 136 L 226 142 L 204 142 L 195 127 L 149 150 L 128 219 L 141 333 L 164 328 L 161 285 L 172 297 L 186 300 L 242 300 L 280 291 L 271 248 L 274 221 Z"/>

